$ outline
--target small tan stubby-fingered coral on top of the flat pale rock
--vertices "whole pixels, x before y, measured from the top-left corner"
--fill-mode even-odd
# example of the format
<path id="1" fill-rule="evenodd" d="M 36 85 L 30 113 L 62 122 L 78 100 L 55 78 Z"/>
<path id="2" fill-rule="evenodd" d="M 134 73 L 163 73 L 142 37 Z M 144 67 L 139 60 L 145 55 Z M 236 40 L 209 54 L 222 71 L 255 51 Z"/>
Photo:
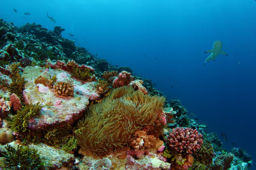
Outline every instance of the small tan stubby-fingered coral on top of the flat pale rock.
<path id="1" fill-rule="evenodd" d="M 73 85 L 67 82 L 57 82 L 53 85 L 54 93 L 57 95 L 63 96 L 72 96 L 74 95 L 74 87 Z"/>

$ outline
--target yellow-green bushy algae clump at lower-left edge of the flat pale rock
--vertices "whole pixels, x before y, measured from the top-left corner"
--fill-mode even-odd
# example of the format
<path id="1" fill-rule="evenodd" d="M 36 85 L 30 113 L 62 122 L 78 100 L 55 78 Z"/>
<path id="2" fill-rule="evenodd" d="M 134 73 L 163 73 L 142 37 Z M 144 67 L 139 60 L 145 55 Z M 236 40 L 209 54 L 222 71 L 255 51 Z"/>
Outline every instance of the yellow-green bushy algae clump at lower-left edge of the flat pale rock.
<path id="1" fill-rule="evenodd" d="M 28 104 L 22 106 L 21 110 L 17 111 L 17 114 L 13 116 L 9 121 L 10 128 L 16 132 L 25 132 L 27 130 L 28 121 L 31 117 L 38 114 L 42 107 L 42 103 L 38 102 L 36 104 Z"/>

